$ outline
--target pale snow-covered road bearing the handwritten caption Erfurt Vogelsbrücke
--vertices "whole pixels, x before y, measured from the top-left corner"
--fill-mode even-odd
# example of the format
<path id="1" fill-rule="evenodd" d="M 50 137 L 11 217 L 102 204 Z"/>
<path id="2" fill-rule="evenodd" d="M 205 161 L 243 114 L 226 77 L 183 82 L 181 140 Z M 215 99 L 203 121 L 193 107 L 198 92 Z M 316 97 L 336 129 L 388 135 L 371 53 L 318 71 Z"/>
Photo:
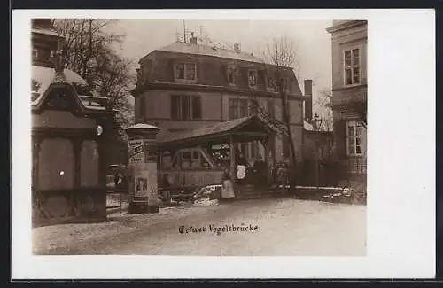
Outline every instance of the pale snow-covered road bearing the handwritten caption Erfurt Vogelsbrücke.
<path id="1" fill-rule="evenodd" d="M 366 206 L 260 199 L 221 204 L 206 214 L 123 233 L 76 253 L 363 256 L 365 246 Z"/>

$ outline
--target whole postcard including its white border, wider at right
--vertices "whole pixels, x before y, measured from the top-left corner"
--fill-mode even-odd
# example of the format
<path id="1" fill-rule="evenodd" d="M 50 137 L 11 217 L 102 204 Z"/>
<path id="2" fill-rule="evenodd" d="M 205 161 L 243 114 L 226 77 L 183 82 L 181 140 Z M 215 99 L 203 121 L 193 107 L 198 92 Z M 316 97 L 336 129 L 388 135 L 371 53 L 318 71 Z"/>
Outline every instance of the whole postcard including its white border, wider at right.
<path id="1" fill-rule="evenodd" d="M 12 275 L 435 272 L 434 12 L 12 16 Z"/>

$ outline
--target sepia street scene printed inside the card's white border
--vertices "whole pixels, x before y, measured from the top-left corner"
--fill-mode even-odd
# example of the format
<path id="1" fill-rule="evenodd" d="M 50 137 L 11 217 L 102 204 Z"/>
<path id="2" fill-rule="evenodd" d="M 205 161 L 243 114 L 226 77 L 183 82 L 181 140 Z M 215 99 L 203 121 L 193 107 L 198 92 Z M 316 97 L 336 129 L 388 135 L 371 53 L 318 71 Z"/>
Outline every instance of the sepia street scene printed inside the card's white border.
<path id="1" fill-rule="evenodd" d="M 30 25 L 35 254 L 365 255 L 366 20 Z"/>

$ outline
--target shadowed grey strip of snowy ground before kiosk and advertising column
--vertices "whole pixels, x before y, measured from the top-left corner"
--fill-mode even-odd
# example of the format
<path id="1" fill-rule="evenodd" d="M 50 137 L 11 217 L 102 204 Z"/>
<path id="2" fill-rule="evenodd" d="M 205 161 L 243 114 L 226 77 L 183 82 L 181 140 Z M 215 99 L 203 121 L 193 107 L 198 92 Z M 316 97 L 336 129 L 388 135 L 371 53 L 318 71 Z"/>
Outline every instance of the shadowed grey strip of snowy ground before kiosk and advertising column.
<path id="1" fill-rule="evenodd" d="M 71 244 L 99 242 L 108 237 L 142 230 L 161 222 L 178 220 L 192 214 L 204 214 L 217 206 L 165 207 L 158 214 L 127 214 L 116 212 L 108 215 L 106 222 L 75 223 L 44 226 L 33 229 L 33 253 L 51 253 L 69 249 Z"/>

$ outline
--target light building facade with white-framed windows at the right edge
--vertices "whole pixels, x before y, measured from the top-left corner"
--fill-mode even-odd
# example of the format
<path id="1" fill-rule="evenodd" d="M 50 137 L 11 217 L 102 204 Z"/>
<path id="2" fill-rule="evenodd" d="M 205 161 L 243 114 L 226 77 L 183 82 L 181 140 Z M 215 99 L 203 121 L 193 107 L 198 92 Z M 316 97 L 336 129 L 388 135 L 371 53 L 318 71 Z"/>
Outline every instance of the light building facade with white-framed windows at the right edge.
<path id="1" fill-rule="evenodd" d="M 334 20 L 332 44 L 334 139 L 341 178 L 366 189 L 368 22 Z"/>

